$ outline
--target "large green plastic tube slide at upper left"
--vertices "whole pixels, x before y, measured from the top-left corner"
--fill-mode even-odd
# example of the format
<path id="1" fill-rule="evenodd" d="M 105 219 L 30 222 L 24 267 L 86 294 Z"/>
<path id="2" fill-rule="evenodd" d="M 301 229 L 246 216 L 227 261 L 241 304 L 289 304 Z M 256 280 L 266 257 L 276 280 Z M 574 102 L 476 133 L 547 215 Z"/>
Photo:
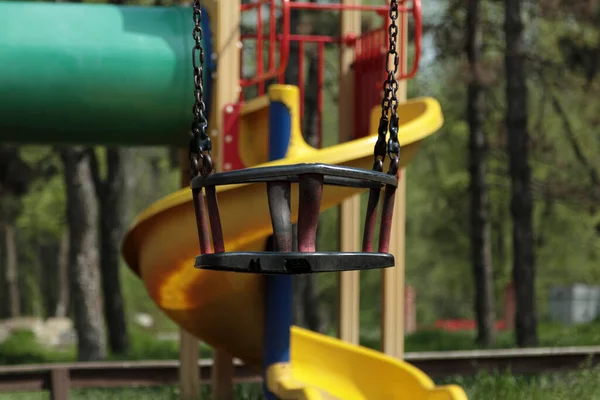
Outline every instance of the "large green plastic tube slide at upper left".
<path id="1" fill-rule="evenodd" d="M 191 7 L 0 1 L 0 142 L 187 146 L 192 28 Z"/>

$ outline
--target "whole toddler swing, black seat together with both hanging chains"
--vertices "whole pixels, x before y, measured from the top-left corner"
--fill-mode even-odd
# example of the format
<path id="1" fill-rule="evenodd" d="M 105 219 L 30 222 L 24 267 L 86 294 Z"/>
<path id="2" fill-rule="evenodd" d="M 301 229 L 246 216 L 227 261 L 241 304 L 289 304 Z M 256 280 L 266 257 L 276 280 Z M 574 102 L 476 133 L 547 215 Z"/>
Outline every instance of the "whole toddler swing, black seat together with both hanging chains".
<path id="1" fill-rule="evenodd" d="M 323 163 L 248 168 L 215 172 L 211 158 L 211 140 L 207 134 L 203 100 L 204 49 L 202 48 L 202 10 L 194 0 L 192 50 L 194 70 L 194 107 L 189 144 L 190 186 L 194 200 L 200 255 L 196 268 L 257 274 L 305 274 L 387 268 L 394 266 L 389 254 L 394 199 L 398 187 L 400 143 L 398 141 L 397 52 L 398 0 L 390 2 L 387 77 L 383 85 L 382 113 L 374 146 L 371 170 Z M 391 57 L 391 62 L 390 61 Z M 388 114 L 390 116 L 388 117 Z M 389 139 L 386 136 L 389 131 Z M 383 172 L 385 156 L 390 162 Z M 264 183 L 268 197 L 275 251 L 227 252 L 223 242 L 216 187 L 222 185 Z M 297 249 L 292 251 L 291 186 L 299 185 Z M 316 232 L 324 185 L 369 189 L 361 252 L 317 252 Z M 377 209 L 383 192 L 381 224 L 377 251 L 373 249 Z M 210 233 L 209 233 L 210 232 Z M 212 248 L 211 248 L 212 237 Z"/>

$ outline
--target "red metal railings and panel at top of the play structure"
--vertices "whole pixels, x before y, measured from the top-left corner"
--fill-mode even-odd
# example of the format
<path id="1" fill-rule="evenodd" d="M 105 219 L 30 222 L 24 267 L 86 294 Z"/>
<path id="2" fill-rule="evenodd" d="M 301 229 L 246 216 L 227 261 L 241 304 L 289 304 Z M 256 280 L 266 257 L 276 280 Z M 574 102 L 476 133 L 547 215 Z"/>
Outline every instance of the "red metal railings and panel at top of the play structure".
<path id="1" fill-rule="evenodd" d="M 383 2 L 383 1 L 382 1 Z M 277 4 L 281 3 L 281 4 Z M 263 8 L 268 8 L 267 21 L 263 21 Z M 354 96 L 354 137 L 364 136 L 368 132 L 371 110 L 381 102 L 383 80 L 385 74 L 385 63 L 387 60 L 388 30 L 387 16 L 389 8 L 387 4 L 380 6 L 373 5 L 345 5 L 345 4 L 324 4 L 308 2 L 292 2 L 290 0 L 256 0 L 254 3 L 242 5 L 242 12 L 256 10 L 256 30 L 254 33 L 244 33 L 242 43 L 253 41 L 256 44 L 254 52 L 255 73 L 252 78 L 245 78 L 242 75 L 240 86 L 242 89 L 255 87 L 256 95 L 265 93 L 265 86 L 270 81 L 285 83 L 285 71 L 290 62 L 290 43 L 298 45 L 298 77 L 297 84 L 300 88 L 301 97 L 301 118 L 305 115 L 305 50 L 309 45 L 315 45 L 317 62 L 317 86 L 316 94 L 316 129 L 317 145 L 322 142 L 323 130 L 323 89 L 325 83 L 325 48 L 327 45 L 350 46 L 354 49 L 354 76 L 355 76 L 355 96 Z M 367 32 L 359 37 L 333 37 L 327 35 L 300 35 L 290 34 L 290 14 L 296 10 L 322 10 L 338 12 L 374 12 L 382 19 L 380 28 Z M 277 30 L 277 12 L 281 17 L 281 29 Z M 400 57 L 400 70 L 398 79 L 410 79 L 414 77 L 418 70 L 421 53 L 421 4 L 420 0 L 401 0 L 399 7 L 399 46 L 398 53 Z M 407 48 L 403 44 L 407 32 L 406 24 L 408 17 L 414 21 L 414 56 L 410 68 L 406 66 Z M 265 33 L 265 25 L 268 25 L 268 32 Z M 267 57 L 265 60 L 265 50 Z M 276 55 L 279 55 L 277 63 Z M 242 65 L 252 62 L 246 57 L 242 57 Z M 266 67 L 265 67 L 266 63 Z M 242 94 L 241 99 L 244 98 Z M 303 126 L 303 130 L 306 127 Z"/>

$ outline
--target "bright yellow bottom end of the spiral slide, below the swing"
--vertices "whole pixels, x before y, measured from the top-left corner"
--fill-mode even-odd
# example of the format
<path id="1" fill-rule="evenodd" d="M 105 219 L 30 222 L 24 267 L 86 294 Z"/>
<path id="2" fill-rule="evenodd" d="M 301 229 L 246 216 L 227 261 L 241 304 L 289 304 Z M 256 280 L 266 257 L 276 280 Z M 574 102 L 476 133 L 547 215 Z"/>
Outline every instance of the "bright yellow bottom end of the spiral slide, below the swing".
<path id="1" fill-rule="evenodd" d="M 407 362 L 299 327 L 291 364 L 269 368 L 267 385 L 285 400 L 467 400 L 460 387 L 435 387 Z"/>

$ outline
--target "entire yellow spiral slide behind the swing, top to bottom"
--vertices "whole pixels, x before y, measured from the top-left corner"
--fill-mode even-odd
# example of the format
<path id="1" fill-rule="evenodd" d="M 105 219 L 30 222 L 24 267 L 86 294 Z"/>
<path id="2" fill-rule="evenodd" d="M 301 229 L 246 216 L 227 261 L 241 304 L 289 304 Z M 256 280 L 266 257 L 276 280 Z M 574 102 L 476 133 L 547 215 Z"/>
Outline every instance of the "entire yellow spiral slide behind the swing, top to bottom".
<path id="1" fill-rule="evenodd" d="M 322 162 L 371 168 L 379 110 L 372 114 L 373 135 L 317 150 L 302 138 L 298 97 L 297 87 L 273 85 L 268 96 L 244 105 L 239 143 L 246 166 Z M 292 136 L 286 158 L 266 163 L 268 106 L 275 100 L 291 111 Z M 442 125 L 442 113 L 437 101 L 421 98 L 400 105 L 398 114 L 401 163 L 405 166 L 421 141 Z M 264 249 L 272 233 L 264 185 L 221 186 L 217 191 L 226 251 Z M 361 191 L 325 187 L 322 210 Z M 292 199 L 297 195 L 292 194 Z M 292 208 L 297 207 L 293 201 Z M 129 267 L 171 319 L 209 345 L 261 370 L 264 276 L 196 269 L 198 253 L 188 188 L 144 211 L 123 244 Z M 298 327 L 292 329 L 291 346 L 290 365 L 275 365 L 267 372 L 270 390 L 281 399 L 466 399 L 458 387 L 435 388 L 426 375 L 408 363 Z"/>

